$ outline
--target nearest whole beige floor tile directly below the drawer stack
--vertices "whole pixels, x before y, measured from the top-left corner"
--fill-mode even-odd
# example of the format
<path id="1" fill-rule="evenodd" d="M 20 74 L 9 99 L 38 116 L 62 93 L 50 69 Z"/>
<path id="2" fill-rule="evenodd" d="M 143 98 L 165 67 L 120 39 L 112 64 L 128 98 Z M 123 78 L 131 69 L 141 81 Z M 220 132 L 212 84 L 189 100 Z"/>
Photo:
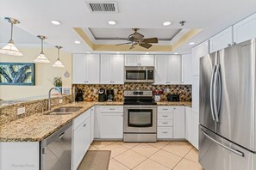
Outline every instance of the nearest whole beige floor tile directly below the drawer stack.
<path id="1" fill-rule="evenodd" d="M 157 161 L 165 167 L 173 168 L 175 167 L 179 161 L 181 161 L 182 157 L 178 155 L 173 155 L 172 153 L 166 152 L 165 150 L 159 150 L 157 153 L 149 157 L 149 159 L 153 161 Z"/>

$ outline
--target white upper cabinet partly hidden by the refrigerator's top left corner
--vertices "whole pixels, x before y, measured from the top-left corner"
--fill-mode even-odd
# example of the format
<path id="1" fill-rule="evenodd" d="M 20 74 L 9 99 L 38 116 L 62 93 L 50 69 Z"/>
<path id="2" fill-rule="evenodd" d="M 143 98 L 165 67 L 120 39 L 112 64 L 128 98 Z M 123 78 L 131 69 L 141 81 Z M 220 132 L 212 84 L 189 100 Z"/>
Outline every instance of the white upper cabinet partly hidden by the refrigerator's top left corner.
<path id="1" fill-rule="evenodd" d="M 209 54 L 209 40 L 192 48 L 192 70 L 193 76 L 199 76 L 200 58 Z"/>

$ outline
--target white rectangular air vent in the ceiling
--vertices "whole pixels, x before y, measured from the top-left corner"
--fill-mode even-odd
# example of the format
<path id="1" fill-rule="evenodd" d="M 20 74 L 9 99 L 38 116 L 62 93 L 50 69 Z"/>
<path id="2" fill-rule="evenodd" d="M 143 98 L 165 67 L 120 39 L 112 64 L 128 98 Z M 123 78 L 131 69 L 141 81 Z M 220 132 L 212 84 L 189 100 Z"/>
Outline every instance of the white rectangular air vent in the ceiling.
<path id="1" fill-rule="evenodd" d="M 86 3 L 92 13 L 117 13 L 117 2 L 89 2 Z"/>

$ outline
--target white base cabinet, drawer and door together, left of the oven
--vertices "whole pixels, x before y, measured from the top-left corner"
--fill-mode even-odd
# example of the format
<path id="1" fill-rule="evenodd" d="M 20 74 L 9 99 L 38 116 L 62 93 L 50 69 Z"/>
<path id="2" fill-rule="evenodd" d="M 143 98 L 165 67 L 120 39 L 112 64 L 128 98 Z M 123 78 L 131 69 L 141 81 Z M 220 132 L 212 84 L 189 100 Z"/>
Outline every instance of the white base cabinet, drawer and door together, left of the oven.
<path id="1" fill-rule="evenodd" d="M 123 106 L 101 106 L 101 138 L 123 138 Z"/>

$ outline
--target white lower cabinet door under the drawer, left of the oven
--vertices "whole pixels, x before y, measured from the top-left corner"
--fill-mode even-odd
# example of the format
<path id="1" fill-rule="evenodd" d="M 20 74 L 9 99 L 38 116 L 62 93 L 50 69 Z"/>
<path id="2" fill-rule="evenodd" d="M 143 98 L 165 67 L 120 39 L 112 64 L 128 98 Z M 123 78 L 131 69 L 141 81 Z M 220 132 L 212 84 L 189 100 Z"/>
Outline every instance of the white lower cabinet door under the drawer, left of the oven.
<path id="1" fill-rule="evenodd" d="M 101 138 L 121 139 L 123 138 L 123 114 L 102 113 L 101 114 Z"/>

